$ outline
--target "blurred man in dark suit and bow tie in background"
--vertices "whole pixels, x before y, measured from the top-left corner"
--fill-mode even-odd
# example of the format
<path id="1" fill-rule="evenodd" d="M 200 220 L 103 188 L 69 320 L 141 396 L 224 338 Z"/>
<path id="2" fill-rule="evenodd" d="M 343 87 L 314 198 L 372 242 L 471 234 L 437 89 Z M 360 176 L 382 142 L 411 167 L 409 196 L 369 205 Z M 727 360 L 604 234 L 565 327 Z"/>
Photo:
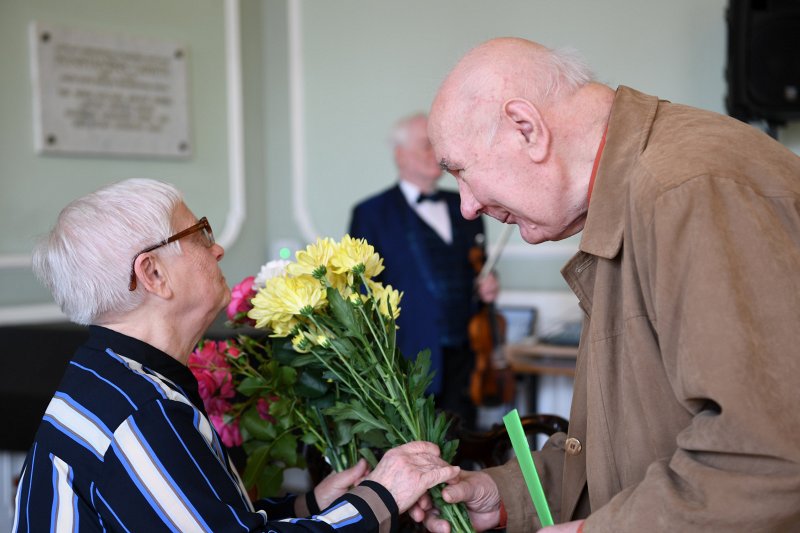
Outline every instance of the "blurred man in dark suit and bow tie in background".
<path id="1" fill-rule="evenodd" d="M 483 220 L 461 216 L 457 192 L 437 189 L 442 170 L 427 135 L 427 116 L 401 119 L 391 135 L 398 182 L 355 206 L 350 235 L 364 238 L 383 257 L 383 283 L 403 291 L 397 342 L 406 357 L 431 350 L 436 372 L 429 392 L 437 407 L 475 427 L 470 378 L 475 354 L 468 324 L 478 300 L 494 301 L 494 274 L 477 284 L 470 250 Z M 479 298 L 474 298 L 474 295 Z"/>

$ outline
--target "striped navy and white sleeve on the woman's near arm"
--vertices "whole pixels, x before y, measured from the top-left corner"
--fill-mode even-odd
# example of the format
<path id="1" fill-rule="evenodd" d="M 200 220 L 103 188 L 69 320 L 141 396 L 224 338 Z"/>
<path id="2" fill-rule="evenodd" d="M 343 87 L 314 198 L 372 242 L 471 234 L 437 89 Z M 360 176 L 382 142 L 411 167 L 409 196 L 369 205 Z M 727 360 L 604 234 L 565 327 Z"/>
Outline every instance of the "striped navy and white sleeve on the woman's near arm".
<path id="1" fill-rule="evenodd" d="M 140 406 L 121 424 L 103 468 L 94 496 L 111 529 L 377 531 L 380 521 L 397 517 L 391 494 L 373 484 L 356 487 L 315 516 L 272 519 L 263 502 L 259 510 L 250 504 L 207 420 L 174 400 Z"/>

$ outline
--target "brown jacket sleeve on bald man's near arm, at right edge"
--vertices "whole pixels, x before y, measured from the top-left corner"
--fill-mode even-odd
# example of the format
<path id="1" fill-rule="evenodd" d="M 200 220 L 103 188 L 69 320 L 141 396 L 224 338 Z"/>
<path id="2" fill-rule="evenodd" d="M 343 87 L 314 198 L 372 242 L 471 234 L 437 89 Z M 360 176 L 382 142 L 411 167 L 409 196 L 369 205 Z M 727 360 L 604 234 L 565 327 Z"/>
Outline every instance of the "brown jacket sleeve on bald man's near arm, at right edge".
<path id="1" fill-rule="evenodd" d="M 692 415 L 676 450 L 588 518 L 596 531 L 794 531 L 800 524 L 796 196 L 702 176 L 645 224 L 655 326 Z"/>

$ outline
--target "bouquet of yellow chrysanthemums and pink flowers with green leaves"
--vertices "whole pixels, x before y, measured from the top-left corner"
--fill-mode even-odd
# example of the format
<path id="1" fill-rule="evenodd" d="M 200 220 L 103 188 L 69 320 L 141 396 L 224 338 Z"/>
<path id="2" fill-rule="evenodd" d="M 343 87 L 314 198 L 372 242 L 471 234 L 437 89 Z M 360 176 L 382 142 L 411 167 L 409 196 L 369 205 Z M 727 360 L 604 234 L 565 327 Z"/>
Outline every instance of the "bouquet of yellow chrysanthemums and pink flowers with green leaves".
<path id="1" fill-rule="evenodd" d="M 268 263 L 258 278 L 234 289 L 228 316 L 234 323 L 252 321 L 264 336 L 240 336 L 238 346 L 224 346 L 228 366 L 218 377 L 208 365 L 199 370 L 212 374 L 201 392 L 205 387 L 216 396 L 206 397 L 226 400 L 236 390 L 245 398 L 227 410 L 217 402 L 220 418 L 206 401 L 212 421 L 222 424 L 219 433 L 238 432 L 244 441 L 245 483 L 260 480 L 259 488 L 266 487 L 265 475 L 276 477 L 270 464 L 301 465 L 297 439 L 317 447 L 336 470 L 359 456 L 374 466 L 376 454 L 414 440 L 436 443 L 452 460 L 458 443 L 447 440 L 449 423 L 425 395 L 432 380 L 429 352 L 413 360 L 399 352 L 395 320 L 402 294 L 373 279 L 383 268 L 363 239 L 318 239 L 298 251 L 296 261 Z M 219 344 L 214 349 L 220 352 Z M 203 345 L 196 354 L 204 350 L 213 351 Z M 472 531 L 462 505 L 445 503 L 439 490 L 433 498 L 455 531 Z"/>

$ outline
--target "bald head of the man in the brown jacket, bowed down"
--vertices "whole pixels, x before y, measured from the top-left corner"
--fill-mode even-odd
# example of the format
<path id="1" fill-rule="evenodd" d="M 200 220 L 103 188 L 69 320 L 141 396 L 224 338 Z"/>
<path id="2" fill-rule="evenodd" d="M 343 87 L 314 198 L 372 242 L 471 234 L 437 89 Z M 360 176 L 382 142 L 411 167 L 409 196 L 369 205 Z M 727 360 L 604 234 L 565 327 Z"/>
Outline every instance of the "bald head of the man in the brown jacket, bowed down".
<path id="1" fill-rule="evenodd" d="M 439 89 L 428 135 L 461 213 L 517 224 L 531 243 L 583 227 L 614 91 L 575 54 L 517 38 L 471 50 Z"/>

